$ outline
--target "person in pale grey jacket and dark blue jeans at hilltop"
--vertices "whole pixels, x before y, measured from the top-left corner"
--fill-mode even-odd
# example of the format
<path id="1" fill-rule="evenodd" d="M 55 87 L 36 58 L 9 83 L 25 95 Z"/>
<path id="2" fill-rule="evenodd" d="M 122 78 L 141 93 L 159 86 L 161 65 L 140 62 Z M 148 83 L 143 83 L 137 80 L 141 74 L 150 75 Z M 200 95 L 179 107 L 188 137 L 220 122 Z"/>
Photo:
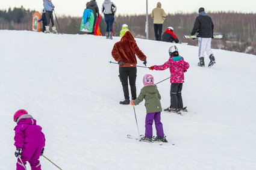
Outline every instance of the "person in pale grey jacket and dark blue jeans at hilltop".
<path id="1" fill-rule="evenodd" d="M 114 23 L 114 14 L 116 13 L 116 5 L 110 0 L 105 0 L 102 4 L 102 13 L 105 16 L 106 28 L 106 38 L 112 39 L 112 26 Z"/>

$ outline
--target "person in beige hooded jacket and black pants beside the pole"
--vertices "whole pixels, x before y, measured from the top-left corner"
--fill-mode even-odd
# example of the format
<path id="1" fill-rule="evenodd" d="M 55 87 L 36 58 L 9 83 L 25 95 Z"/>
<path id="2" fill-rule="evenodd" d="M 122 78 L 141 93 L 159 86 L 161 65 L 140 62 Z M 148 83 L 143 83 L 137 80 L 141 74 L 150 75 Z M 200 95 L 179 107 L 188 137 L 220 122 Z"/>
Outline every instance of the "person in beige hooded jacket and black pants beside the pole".
<path id="1" fill-rule="evenodd" d="M 161 41 L 162 29 L 166 13 L 161 8 L 161 2 L 157 2 L 157 8 L 154 8 L 151 13 L 152 19 L 154 19 L 155 40 Z"/>

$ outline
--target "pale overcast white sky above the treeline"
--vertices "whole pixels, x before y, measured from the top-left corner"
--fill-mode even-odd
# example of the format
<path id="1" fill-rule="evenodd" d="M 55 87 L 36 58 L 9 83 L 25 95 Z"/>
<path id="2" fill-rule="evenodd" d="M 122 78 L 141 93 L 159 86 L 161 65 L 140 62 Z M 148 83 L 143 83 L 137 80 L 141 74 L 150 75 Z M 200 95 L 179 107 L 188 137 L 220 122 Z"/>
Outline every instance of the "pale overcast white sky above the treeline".
<path id="1" fill-rule="evenodd" d="M 55 5 L 55 13 L 65 14 L 66 16 L 81 16 L 83 15 L 86 2 L 90 0 L 52 0 Z M 98 3 L 99 10 L 101 10 L 102 3 L 104 0 L 96 1 Z M 113 0 L 117 6 L 116 14 L 146 14 L 146 0 Z M 129 2 L 129 3 L 128 3 Z M 242 13 L 256 13 L 255 0 L 148 0 L 148 13 L 151 13 L 152 9 L 156 7 L 157 2 L 161 2 L 162 8 L 166 13 L 193 13 L 198 11 L 198 8 L 204 7 L 205 11 L 237 11 Z M 42 11 L 43 0 L 8 0 L 0 1 L 0 9 L 8 9 L 9 7 L 20 7 L 23 5 L 24 8 Z"/>

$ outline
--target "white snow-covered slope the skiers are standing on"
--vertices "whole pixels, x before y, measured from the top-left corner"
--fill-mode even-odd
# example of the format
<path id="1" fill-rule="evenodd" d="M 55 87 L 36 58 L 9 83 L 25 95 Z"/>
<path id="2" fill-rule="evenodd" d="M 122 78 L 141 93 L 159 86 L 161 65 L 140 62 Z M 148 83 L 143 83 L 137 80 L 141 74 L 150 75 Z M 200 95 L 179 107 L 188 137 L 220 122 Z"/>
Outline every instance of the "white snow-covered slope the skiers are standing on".
<path id="1" fill-rule="evenodd" d="M 26 109 L 42 126 L 45 156 L 62 169 L 256 169 L 256 56 L 213 49 L 216 65 L 198 67 L 198 47 L 175 44 L 189 62 L 183 116 L 162 112 L 169 143 L 139 142 L 133 106 L 123 100 L 111 50 L 120 37 L 0 31 L 0 169 L 15 169 L 13 114 Z M 169 58 L 172 43 L 136 38 L 148 64 Z M 208 65 L 209 59 L 205 57 Z M 138 65 L 143 65 L 138 59 Z M 169 69 L 137 68 L 155 83 Z M 170 83 L 158 84 L 163 108 Z M 144 102 L 135 106 L 145 132 Z M 154 135 L 155 134 L 155 128 Z M 175 144 L 175 145 L 172 145 Z M 42 169 L 57 169 L 40 157 Z M 28 169 L 30 166 L 27 164 Z"/>

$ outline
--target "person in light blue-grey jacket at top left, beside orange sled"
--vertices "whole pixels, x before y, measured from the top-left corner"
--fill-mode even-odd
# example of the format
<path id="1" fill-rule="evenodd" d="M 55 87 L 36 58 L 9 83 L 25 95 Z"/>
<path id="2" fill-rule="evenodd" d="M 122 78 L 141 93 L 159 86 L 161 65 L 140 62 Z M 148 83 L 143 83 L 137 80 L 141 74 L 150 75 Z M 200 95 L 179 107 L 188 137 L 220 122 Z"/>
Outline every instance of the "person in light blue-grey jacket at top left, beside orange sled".
<path id="1" fill-rule="evenodd" d="M 52 22 L 52 32 L 57 32 L 56 27 L 54 25 L 54 16 L 52 11 L 54 10 L 55 6 L 52 4 L 52 0 L 44 0 L 43 7 L 46 10 L 46 17 L 47 17 L 47 26 L 45 27 L 46 32 L 50 32 L 50 20 Z"/>

